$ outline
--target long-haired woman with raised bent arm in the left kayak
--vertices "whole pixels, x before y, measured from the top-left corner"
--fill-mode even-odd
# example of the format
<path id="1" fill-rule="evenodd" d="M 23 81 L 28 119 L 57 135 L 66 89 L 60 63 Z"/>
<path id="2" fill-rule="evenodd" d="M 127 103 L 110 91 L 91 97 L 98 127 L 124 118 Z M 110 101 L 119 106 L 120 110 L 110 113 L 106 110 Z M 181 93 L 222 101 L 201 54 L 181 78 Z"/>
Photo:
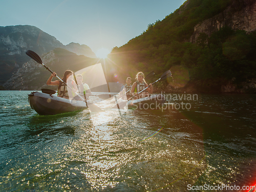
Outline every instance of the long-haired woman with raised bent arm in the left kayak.
<path id="1" fill-rule="evenodd" d="M 65 71 L 62 81 L 66 82 L 68 86 L 70 86 L 73 90 L 71 90 L 69 87 L 65 86 L 64 83 L 62 83 L 60 80 L 52 81 L 53 77 L 56 77 L 56 73 L 53 72 L 49 79 L 47 80 L 46 84 L 49 86 L 58 86 L 58 97 L 63 97 L 66 99 L 69 99 L 71 97 L 74 97 L 74 92 L 77 91 L 75 81 L 72 80 L 73 72 L 70 70 Z"/>

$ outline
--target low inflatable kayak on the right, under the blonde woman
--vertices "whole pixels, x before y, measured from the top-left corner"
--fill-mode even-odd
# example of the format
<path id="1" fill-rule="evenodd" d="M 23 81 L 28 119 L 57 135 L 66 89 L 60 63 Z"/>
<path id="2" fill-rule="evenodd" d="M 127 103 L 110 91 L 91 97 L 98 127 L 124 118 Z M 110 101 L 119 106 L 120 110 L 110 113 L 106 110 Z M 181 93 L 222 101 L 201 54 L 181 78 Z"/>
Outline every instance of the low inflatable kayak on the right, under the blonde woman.
<path id="1" fill-rule="evenodd" d="M 118 99 L 118 103 L 124 102 L 123 99 Z M 150 97 L 144 97 L 136 100 L 127 101 L 128 109 L 161 109 L 162 105 L 165 103 L 165 98 L 162 94 L 151 95 Z"/>

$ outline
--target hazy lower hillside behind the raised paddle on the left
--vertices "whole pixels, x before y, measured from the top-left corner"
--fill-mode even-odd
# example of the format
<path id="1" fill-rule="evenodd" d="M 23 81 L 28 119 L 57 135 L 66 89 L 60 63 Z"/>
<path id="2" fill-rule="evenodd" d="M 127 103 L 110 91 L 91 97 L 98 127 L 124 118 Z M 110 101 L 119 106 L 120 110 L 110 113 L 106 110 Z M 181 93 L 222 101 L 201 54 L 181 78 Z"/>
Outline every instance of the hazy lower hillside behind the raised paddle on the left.
<path id="1" fill-rule="evenodd" d="M 56 48 L 41 56 L 42 62 L 52 71 L 62 77 L 66 70 L 78 71 L 97 63 L 98 59 L 77 55 L 66 49 Z M 29 57 L 21 68 L 15 72 L 3 86 L 10 90 L 40 90 L 41 88 L 57 89 L 54 86 L 47 86 L 46 81 L 51 73 L 42 65 Z M 58 80 L 54 78 L 54 80 Z"/>

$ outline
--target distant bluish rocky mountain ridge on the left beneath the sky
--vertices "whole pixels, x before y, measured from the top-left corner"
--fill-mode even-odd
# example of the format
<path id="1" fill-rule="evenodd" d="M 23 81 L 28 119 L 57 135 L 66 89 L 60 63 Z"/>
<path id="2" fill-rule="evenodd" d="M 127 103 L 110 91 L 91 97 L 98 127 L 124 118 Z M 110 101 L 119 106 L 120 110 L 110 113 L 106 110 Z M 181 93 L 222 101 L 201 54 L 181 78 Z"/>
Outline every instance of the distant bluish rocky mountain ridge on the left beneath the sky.
<path id="1" fill-rule="evenodd" d="M 0 86 L 8 80 L 25 62 L 30 60 L 27 50 L 33 50 L 38 55 L 55 48 L 67 49 L 78 55 L 96 58 L 95 53 L 86 46 L 71 43 L 64 46 L 54 36 L 34 26 L 0 27 Z"/>

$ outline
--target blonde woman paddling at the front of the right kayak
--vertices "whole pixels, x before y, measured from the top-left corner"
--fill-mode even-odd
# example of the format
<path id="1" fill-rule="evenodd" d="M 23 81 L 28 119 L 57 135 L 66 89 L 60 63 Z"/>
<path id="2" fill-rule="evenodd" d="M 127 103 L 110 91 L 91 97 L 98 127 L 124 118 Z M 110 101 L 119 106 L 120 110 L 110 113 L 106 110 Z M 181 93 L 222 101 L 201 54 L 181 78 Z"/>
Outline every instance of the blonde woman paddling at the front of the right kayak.
<path id="1" fill-rule="evenodd" d="M 144 79 L 145 75 L 142 72 L 138 72 L 136 74 L 136 81 L 133 83 L 132 89 L 130 91 L 130 94 L 134 97 L 135 99 L 140 99 L 140 98 L 144 98 L 144 97 L 148 97 L 150 96 L 150 94 L 153 94 L 153 86 L 152 83 L 147 84 L 145 79 Z M 146 90 L 144 90 L 147 86 L 150 86 L 149 88 L 147 88 Z M 143 92 L 141 92 L 142 90 L 144 90 Z M 147 93 L 147 92 L 148 93 Z M 139 92 L 141 92 L 140 94 L 138 94 Z"/>

